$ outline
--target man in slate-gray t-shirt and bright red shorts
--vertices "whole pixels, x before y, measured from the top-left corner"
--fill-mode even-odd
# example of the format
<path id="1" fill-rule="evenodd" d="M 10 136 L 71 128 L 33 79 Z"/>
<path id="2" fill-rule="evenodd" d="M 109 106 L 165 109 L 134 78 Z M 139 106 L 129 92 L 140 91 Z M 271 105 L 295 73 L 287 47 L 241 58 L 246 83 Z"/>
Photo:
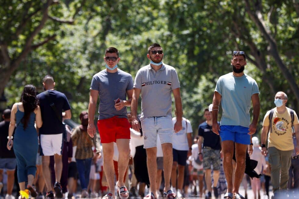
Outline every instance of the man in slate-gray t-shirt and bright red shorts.
<path id="1" fill-rule="evenodd" d="M 95 135 L 94 115 L 98 96 L 99 120 L 98 130 L 103 146 L 104 171 L 110 193 L 103 199 L 115 198 L 114 194 L 114 166 L 113 142 L 119 151 L 118 158 L 118 193 L 121 199 L 129 197 L 128 189 L 124 185 L 124 174 L 129 162 L 130 124 L 127 119 L 127 108 L 131 106 L 133 94 L 133 80 L 129 73 L 117 69 L 120 58 L 118 50 L 110 47 L 105 51 L 106 69 L 92 77 L 88 105 L 88 128 L 90 137 Z M 128 100 L 126 100 L 128 96 Z"/>

